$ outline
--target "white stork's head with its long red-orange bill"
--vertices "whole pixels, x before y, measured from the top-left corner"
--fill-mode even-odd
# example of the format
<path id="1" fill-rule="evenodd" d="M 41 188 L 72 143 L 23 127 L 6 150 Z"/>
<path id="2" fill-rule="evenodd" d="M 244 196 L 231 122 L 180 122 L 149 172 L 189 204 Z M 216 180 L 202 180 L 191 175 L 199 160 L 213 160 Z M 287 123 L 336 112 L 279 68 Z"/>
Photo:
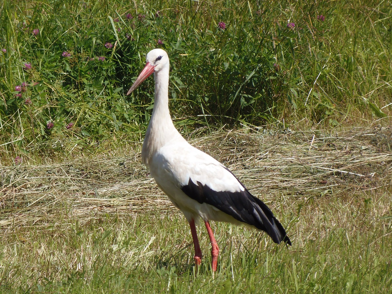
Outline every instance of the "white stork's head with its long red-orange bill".
<path id="1" fill-rule="evenodd" d="M 153 49 L 146 56 L 146 65 L 142 72 L 139 74 L 136 81 L 129 89 L 127 95 L 131 94 L 146 78 L 151 76 L 152 73 L 158 72 L 163 68 L 169 67 L 169 56 L 163 49 Z"/>

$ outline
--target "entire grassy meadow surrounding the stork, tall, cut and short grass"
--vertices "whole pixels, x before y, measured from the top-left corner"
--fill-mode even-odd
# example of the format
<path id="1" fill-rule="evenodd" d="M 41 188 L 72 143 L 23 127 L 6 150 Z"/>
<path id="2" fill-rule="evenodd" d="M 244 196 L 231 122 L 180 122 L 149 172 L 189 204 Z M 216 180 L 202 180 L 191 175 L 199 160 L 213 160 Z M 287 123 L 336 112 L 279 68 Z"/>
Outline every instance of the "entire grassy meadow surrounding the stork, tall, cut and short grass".
<path id="1" fill-rule="evenodd" d="M 390 293 L 390 1 L 4 0 L 0 293 Z M 189 225 L 141 163 L 154 47 L 185 138 L 292 246 Z"/>

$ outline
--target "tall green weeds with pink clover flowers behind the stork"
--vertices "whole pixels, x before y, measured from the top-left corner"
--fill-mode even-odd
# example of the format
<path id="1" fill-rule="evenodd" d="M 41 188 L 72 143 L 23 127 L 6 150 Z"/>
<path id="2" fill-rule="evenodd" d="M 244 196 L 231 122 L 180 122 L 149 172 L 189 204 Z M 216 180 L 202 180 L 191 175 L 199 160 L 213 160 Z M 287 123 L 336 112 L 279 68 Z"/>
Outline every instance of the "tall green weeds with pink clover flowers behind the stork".
<path id="1" fill-rule="evenodd" d="M 2 149 L 59 152 L 140 137 L 152 79 L 125 93 L 155 47 L 171 57 L 179 126 L 388 121 L 391 11 L 352 1 L 5 0 Z"/>

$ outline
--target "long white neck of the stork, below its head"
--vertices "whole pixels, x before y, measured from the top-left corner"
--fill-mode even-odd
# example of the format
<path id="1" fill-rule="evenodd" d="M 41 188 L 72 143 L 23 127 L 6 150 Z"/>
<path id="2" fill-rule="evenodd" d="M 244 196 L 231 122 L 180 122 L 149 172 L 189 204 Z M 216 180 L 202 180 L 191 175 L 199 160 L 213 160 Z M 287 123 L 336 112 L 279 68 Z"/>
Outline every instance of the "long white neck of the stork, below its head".
<path id="1" fill-rule="evenodd" d="M 142 160 L 147 167 L 156 151 L 170 140 L 181 137 L 169 112 L 169 65 L 154 73 L 155 100 L 150 123 L 143 141 Z"/>

